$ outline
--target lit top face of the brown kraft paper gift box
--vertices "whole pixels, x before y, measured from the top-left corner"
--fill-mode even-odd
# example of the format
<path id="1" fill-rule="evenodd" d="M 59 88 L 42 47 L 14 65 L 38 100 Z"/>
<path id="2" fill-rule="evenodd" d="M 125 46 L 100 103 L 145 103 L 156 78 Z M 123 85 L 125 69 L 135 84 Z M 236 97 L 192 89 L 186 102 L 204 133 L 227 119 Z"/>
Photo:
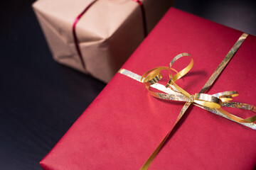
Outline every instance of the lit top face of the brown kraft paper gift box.
<path id="1" fill-rule="evenodd" d="M 55 32 L 67 42 L 73 42 L 72 26 L 75 18 L 91 1 L 36 1 L 33 8 L 50 24 Z M 117 28 L 122 26 L 134 10 L 137 3 L 131 0 L 96 1 L 82 16 L 77 26 L 79 42 L 95 41 L 109 38 Z"/>

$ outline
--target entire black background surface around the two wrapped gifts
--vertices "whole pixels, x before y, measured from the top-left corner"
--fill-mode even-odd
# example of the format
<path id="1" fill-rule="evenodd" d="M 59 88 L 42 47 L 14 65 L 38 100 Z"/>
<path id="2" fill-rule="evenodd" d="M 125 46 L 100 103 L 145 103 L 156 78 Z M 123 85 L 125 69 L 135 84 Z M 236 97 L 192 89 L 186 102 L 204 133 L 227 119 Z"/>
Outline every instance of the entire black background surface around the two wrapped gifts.
<path id="1" fill-rule="evenodd" d="M 105 84 L 53 61 L 31 4 L 0 7 L 0 169 L 41 169 Z M 177 0 L 177 8 L 256 35 L 256 1 Z"/>

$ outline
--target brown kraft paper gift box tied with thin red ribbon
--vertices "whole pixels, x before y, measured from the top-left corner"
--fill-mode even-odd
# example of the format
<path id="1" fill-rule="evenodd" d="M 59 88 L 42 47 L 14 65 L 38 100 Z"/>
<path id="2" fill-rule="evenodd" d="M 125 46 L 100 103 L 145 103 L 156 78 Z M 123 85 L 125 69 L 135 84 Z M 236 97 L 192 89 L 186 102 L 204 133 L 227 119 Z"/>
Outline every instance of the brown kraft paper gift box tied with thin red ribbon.
<path id="1" fill-rule="evenodd" d="M 142 8 L 136 0 L 97 0 L 90 6 L 92 2 L 39 0 L 33 9 L 55 61 L 108 82 L 142 42 L 144 29 L 154 28 L 172 1 L 144 0 Z M 87 6 L 75 27 L 80 56 L 73 23 Z"/>

